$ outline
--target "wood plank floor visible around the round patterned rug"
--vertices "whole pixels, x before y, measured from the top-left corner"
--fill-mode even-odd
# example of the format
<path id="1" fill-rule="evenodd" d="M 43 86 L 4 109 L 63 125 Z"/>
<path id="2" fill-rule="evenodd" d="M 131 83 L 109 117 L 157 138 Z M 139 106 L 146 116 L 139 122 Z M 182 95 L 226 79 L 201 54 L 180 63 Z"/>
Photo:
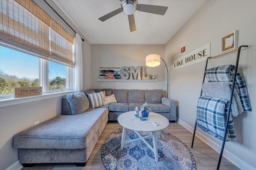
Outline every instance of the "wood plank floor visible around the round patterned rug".
<path id="1" fill-rule="evenodd" d="M 119 127 L 122 126 L 118 123 L 108 123 L 106 125 L 85 167 L 76 167 L 72 164 L 42 164 L 32 168 L 22 168 L 22 170 L 105 170 L 101 160 L 100 149 L 105 138 Z M 193 134 L 178 123 L 170 123 L 165 130 L 178 137 L 188 146 L 194 155 L 197 170 L 216 170 L 219 158 L 218 152 L 197 137 L 195 137 L 194 146 L 191 148 Z M 222 157 L 220 170 L 239 170 L 239 168 Z"/>

